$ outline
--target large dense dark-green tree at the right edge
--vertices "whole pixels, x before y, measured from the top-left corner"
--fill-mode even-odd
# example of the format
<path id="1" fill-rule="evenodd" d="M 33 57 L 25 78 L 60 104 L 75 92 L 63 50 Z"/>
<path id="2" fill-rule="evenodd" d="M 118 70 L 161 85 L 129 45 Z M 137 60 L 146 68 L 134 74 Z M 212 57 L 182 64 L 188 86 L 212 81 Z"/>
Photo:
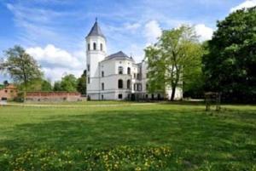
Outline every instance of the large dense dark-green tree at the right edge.
<path id="1" fill-rule="evenodd" d="M 255 100 L 256 7 L 237 10 L 217 27 L 203 57 L 207 90 L 233 100 Z"/>

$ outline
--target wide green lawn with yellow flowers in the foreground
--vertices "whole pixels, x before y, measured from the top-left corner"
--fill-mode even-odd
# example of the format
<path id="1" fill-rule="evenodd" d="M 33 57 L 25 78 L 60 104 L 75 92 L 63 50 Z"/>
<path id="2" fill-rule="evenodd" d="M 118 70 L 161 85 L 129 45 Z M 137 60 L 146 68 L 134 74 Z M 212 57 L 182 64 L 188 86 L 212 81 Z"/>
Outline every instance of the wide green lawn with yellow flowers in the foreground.
<path id="1" fill-rule="evenodd" d="M 0 106 L 0 170 L 256 170 L 255 105 L 103 104 Z"/>

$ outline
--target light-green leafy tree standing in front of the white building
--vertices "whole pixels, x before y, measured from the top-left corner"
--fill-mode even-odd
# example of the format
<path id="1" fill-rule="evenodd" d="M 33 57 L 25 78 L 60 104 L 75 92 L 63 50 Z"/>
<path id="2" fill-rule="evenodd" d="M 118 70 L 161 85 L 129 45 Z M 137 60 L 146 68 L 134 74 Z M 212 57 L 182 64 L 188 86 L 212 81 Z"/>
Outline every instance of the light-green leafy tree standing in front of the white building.
<path id="1" fill-rule="evenodd" d="M 177 87 L 187 83 L 195 75 L 195 68 L 201 67 L 203 50 L 192 27 L 181 26 L 163 31 L 159 42 L 145 49 L 148 60 L 149 92 L 165 93 L 172 88 L 174 100 Z"/>

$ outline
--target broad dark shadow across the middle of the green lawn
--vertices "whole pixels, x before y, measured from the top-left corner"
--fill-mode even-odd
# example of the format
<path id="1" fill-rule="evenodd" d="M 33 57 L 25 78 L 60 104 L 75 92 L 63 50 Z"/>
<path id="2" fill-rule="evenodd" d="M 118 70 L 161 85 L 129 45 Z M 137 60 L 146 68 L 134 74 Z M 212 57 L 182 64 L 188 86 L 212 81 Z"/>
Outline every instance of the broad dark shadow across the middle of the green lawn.
<path id="1" fill-rule="evenodd" d="M 210 116 L 202 111 L 97 111 L 18 125 L 0 145 L 12 151 L 168 145 L 175 156 L 195 165 L 204 161 L 247 165 L 256 158 L 255 121 L 253 112 Z"/>

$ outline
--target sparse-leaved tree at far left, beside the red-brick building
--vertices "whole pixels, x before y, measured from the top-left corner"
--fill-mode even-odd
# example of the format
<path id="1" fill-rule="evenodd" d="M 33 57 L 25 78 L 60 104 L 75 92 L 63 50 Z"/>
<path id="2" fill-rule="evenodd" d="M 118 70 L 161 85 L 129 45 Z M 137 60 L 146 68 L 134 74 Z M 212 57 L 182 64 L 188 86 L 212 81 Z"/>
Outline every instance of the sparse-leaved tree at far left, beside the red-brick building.
<path id="1" fill-rule="evenodd" d="M 5 51 L 0 70 L 7 72 L 15 82 L 21 83 L 25 93 L 32 80 L 43 76 L 37 61 L 20 46 Z"/>

